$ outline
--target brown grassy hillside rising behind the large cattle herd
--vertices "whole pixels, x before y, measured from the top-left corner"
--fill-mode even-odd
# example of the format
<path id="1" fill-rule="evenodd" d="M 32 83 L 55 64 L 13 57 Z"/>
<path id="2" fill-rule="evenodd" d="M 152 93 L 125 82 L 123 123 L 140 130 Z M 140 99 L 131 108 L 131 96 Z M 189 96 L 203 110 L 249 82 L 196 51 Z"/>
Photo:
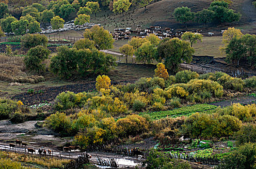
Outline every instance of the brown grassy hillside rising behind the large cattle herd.
<path id="1" fill-rule="evenodd" d="M 144 8 L 132 8 L 125 15 L 113 14 L 109 9 L 101 9 L 101 12 L 91 16 L 91 22 L 99 23 L 104 28 L 113 30 L 114 28 L 131 27 L 136 28 L 142 25 L 144 28 L 151 25 L 160 25 L 162 27 L 182 28 L 182 25 L 176 22 L 173 17 L 174 9 L 181 6 L 187 6 L 193 12 L 208 8 L 212 0 L 160 0 Z M 242 12 L 242 0 L 234 0 L 231 5 L 232 9 Z M 245 16 L 242 21 L 246 20 Z M 196 23 L 189 23 L 190 27 L 198 27 Z"/>

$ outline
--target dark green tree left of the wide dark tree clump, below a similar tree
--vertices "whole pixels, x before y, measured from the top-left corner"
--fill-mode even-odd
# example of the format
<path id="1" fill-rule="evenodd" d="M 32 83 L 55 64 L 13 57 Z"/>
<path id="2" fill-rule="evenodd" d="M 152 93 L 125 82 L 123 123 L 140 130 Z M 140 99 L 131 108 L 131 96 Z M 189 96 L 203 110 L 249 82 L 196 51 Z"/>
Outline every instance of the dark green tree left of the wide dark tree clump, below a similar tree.
<path id="1" fill-rule="evenodd" d="M 45 71 L 45 64 L 42 62 L 48 58 L 50 51 L 44 46 L 36 46 L 31 48 L 27 56 L 24 58 L 24 63 L 28 70 L 42 72 Z"/>

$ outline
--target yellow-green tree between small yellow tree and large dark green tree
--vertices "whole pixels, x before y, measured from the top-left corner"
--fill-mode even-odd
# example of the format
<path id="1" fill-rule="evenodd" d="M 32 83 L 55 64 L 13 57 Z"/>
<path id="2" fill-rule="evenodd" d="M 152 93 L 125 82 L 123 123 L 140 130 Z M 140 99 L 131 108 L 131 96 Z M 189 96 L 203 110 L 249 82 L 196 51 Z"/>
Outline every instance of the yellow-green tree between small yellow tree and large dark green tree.
<path id="1" fill-rule="evenodd" d="M 150 42 L 144 42 L 136 51 L 136 60 L 151 64 L 157 53 L 157 48 Z"/>

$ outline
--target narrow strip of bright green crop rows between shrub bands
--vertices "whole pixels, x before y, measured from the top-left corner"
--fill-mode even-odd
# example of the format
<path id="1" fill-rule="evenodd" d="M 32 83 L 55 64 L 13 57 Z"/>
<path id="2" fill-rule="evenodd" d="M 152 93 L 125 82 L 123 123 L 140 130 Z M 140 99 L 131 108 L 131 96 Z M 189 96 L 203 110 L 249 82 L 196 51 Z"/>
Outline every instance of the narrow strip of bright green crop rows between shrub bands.
<path id="1" fill-rule="evenodd" d="M 204 112 L 204 113 L 212 113 L 217 106 L 209 105 L 209 104 L 197 104 L 193 106 L 186 106 L 170 111 L 160 111 L 160 112 L 151 112 L 151 113 L 142 113 L 142 114 L 149 114 L 152 119 L 160 119 L 164 117 L 179 117 L 179 116 L 189 116 L 192 113 L 196 112 Z"/>

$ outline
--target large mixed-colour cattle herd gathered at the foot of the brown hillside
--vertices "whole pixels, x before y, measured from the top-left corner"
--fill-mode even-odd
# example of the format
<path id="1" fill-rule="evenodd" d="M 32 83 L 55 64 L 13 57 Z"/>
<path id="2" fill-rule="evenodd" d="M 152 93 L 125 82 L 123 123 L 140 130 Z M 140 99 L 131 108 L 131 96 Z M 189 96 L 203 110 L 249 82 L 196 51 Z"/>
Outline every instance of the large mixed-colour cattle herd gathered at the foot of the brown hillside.
<path id="1" fill-rule="evenodd" d="M 123 39 L 130 39 L 131 37 L 137 37 L 137 36 L 131 36 L 131 34 L 137 34 L 138 37 L 145 38 L 149 34 L 155 34 L 160 39 L 164 38 L 180 38 L 182 34 L 186 31 L 174 31 L 174 29 L 171 28 L 164 28 L 162 29 L 159 26 L 150 26 L 149 28 L 142 29 L 141 25 L 137 25 L 136 30 L 132 30 L 131 28 L 116 28 L 114 29 L 114 32 L 112 33 L 112 37 L 114 40 L 123 40 Z M 191 32 L 200 34 L 202 32 L 201 29 L 191 30 Z M 223 32 L 223 30 L 222 30 Z M 208 36 L 213 36 L 213 32 L 208 32 Z"/>

